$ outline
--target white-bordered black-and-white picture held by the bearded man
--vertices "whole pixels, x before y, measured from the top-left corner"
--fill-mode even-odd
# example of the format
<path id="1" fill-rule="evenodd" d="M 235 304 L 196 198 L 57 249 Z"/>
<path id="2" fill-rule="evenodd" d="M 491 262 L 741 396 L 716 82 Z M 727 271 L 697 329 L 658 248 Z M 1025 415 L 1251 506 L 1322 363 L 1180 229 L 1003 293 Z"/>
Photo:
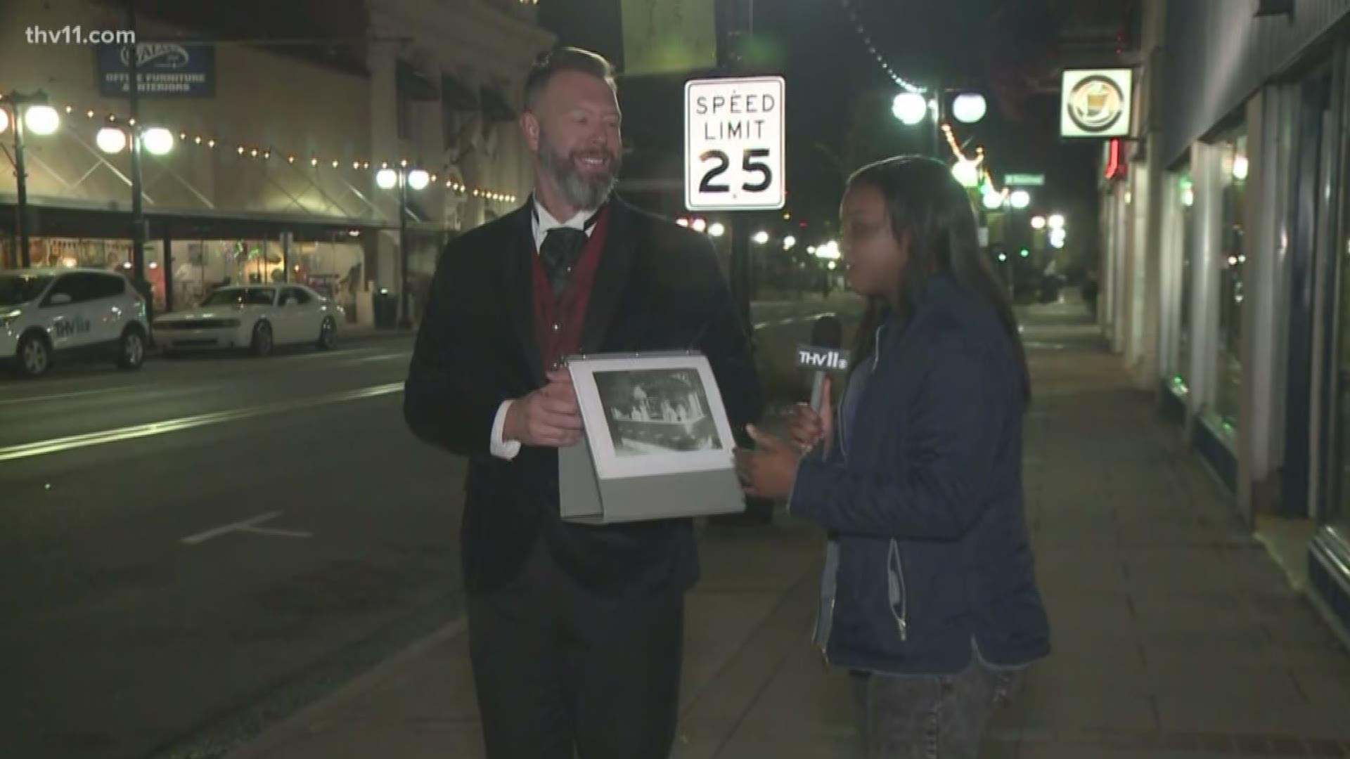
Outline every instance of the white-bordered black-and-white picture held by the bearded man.
<path id="1" fill-rule="evenodd" d="M 734 469 L 736 438 L 702 354 L 572 357 L 567 367 L 597 478 Z"/>

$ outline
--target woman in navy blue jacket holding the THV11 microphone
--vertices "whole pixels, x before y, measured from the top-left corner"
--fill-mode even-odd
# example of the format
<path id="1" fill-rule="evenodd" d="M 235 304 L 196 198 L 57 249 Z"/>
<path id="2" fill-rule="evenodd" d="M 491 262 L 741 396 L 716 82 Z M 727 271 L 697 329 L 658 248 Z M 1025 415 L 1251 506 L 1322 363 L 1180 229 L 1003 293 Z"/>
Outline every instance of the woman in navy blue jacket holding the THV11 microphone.
<path id="1" fill-rule="evenodd" d="M 900 157 L 850 177 L 841 251 L 867 298 L 838 413 L 751 429 L 747 493 L 829 533 L 815 642 L 853 673 L 873 758 L 973 758 L 1049 654 L 1022 502 L 1030 402 L 1017 320 L 965 189 Z"/>

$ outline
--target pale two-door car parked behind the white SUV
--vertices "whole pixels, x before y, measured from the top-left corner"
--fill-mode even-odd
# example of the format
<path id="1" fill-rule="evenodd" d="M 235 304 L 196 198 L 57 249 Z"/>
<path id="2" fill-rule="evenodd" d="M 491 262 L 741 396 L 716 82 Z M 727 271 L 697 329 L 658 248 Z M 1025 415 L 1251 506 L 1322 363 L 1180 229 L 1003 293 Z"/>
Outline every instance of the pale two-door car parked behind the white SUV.
<path id="1" fill-rule="evenodd" d="M 225 286 L 192 311 L 155 319 L 155 342 L 167 355 L 200 348 L 270 355 L 306 343 L 332 350 L 343 321 L 340 305 L 304 285 Z"/>

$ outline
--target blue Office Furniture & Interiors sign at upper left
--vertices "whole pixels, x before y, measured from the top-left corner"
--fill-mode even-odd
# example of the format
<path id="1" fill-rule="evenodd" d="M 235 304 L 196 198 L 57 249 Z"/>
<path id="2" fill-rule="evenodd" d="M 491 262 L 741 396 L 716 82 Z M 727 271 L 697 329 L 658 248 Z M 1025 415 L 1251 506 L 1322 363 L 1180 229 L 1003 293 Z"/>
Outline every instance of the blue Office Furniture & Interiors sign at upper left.
<path id="1" fill-rule="evenodd" d="M 193 42 L 142 42 L 136 74 L 142 97 L 215 97 L 216 49 Z M 131 45 L 97 46 L 99 92 L 127 97 L 131 81 Z"/>

